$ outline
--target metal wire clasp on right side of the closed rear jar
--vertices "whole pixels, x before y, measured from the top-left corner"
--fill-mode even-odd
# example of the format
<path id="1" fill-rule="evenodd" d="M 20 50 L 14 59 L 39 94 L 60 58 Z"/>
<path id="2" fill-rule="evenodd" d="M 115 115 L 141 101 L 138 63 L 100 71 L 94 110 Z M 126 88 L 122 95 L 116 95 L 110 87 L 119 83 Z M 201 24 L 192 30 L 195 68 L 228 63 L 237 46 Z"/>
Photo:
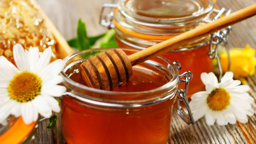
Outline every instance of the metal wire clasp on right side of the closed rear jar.
<path id="1" fill-rule="evenodd" d="M 214 18 L 212 20 L 203 20 L 204 22 L 213 22 L 215 20 L 217 20 L 218 18 L 220 18 L 220 16 L 227 16 L 231 13 L 231 10 L 228 9 L 226 10 L 225 8 L 222 8 L 220 10 L 213 10 L 216 15 L 214 16 Z M 222 30 L 219 30 L 218 32 L 215 32 L 213 34 L 211 34 L 210 36 L 210 52 L 209 52 L 209 57 L 211 59 L 216 58 L 217 62 L 218 62 L 218 69 L 220 71 L 220 76 L 219 76 L 219 80 L 222 78 L 222 67 L 221 67 L 221 63 L 220 63 L 220 57 L 218 55 L 218 45 L 219 44 L 223 44 L 226 52 L 228 54 L 228 68 L 227 71 L 230 70 L 230 64 L 231 64 L 231 60 L 230 60 L 230 53 L 229 53 L 229 44 L 228 44 L 228 34 L 230 33 L 230 31 L 232 30 L 231 26 L 228 26 L 227 28 L 224 28 Z"/>

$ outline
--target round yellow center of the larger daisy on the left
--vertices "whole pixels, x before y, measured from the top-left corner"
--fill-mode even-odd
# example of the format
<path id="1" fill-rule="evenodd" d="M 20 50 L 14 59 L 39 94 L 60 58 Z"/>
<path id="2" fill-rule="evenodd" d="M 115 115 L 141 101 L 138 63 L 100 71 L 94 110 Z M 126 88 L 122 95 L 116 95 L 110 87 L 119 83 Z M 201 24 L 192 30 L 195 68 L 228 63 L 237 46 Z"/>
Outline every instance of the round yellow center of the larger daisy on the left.
<path id="1" fill-rule="evenodd" d="M 31 72 L 21 72 L 14 76 L 8 86 L 11 99 L 18 102 L 28 102 L 40 94 L 42 80 Z"/>

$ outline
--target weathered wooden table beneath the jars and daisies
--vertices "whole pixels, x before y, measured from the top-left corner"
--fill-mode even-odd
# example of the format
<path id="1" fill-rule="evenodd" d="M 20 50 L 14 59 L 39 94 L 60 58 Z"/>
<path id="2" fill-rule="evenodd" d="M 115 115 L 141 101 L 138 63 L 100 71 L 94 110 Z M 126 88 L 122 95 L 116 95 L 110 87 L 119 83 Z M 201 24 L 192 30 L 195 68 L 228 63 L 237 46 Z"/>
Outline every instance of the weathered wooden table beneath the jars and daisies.
<path id="1" fill-rule="evenodd" d="M 66 39 L 76 36 L 78 18 L 82 18 L 86 22 L 88 35 L 96 35 L 106 31 L 106 28 L 98 24 L 98 19 L 102 4 L 110 3 L 111 0 L 38 0 L 38 2 Z M 256 0 L 217 0 L 219 7 L 231 8 L 233 11 L 254 3 Z M 256 48 L 256 16 L 240 22 L 232 28 L 229 39 L 230 46 L 244 47 L 246 44 L 250 44 Z M 248 78 L 248 84 L 251 87 L 249 93 L 256 99 L 256 75 Z M 203 118 L 194 125 L 186 125 L 177 114 L 174 114 L 170 142 L 175 144 L 254 144 L 256 143 L 256 115 L 250 117 L 246 124 L 207 126 Z M 65 143 L 61 134 L 60 115 L 57 126 L 53 129 L 46 128 L 46 122 L 39 125 L 34 143 Z"/>

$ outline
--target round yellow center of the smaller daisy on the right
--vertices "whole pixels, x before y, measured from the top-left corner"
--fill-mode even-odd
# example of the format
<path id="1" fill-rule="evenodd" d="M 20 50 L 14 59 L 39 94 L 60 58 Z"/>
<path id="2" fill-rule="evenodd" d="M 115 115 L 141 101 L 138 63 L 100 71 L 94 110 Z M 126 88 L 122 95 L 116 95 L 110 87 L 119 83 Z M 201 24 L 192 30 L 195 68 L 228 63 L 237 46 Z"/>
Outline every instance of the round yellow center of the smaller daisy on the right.
<path id="1" fill-rule="evenodd" d="M 230 104 L 230 95 L 226 90 L 216 88 L 208 94 L 207 104 L 212 110 L 224 110 Z"/>

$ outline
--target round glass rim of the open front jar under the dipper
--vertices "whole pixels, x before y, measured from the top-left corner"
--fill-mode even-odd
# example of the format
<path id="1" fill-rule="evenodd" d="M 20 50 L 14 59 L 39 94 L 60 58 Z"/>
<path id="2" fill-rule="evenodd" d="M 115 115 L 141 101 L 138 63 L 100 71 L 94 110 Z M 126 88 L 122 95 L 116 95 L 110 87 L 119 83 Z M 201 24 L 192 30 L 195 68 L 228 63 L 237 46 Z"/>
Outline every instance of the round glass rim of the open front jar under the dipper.
<path id="1" fill-rule="evenodd" d="M 86 53 L 86 52 L 93 52 L 93 51 L 96 51 L 96 50 L 110 50 L 110 49 L 114 49 L 114 48 L 94 48 L 94 49 L 89 49 L 89 50 L 84 50 L 84 51 L 80 51 L 80 52 L 76 52 L 70 56 L 67 56 L 66 58 L 63 59 L 63 62 L 64 64 L 66 64 L 68 62 L 68 60 L 80 55 L 80 54 L 83 54 L 83 53 Z M 129 49 L 129 48 L 122 48 L 123 50 L 136 50 L 136 49 Z M 136 50 L 138 51 L 138 50 Z M 96 88 L 91 88 L 91 87 L 88 87 L 88 86 L 85 86 L 83 84 L 80 84 L 78 82 L 75 82 L 74 80 L 68 78 L 68 76 L 66 75 L 65 73 L 65 66 L 62 68 L 62 71 L 61 71 L 61 75 L 62 77 L 64 78 L 64 82 L 67 82 L 68 84 L 72 85 L 72 86 L 75 86 L 77 88 L 81 88 L 82 90 L 86 90 L 86 91 L 89 91 L 89 92 L 95 92 L 95 93 L 98 93 L 98 94 L 111 94 L 111 95 L 133 95 L 133 94 L 148 94 L 148 93 L 152 93 L 152 92 L 157 92 L 157 91 L 161 91 L 161 90 L 164 90 L 166 88 L 168 88 L 169 86 L 172 86 L 172 85 L 176 85 L 178 84 L 178 79 L 179 79 L 179 72 L 178 72 L 178 68 L 173 64 L 171 63 L 169 60 L 167 60 L 166 58 L 162 57 L 162 56 L 158 56 L 158 58 L 160 58 L 161 60 L 164 60 L 164 62 L 167 62 L 174 70 L 174 75 L 172 76 L 171 80 L 169 80 L 166 84 L 158 87 L 158 88 L 155 88 L 155 89 L 152 89 L 152 90 L 146 90 L 146 91 L 140 91 L 140 92 L 115 92 L 115 91 L 107 91 L 107 90 L 100 90 L 100 89 L 96 89 Z M 70 65 L 70 64 L 68 64 Z M 67 65 L 67 66 L 68 66 Z M 170 68 L 168 68 L 168 70 L 170 70 Z M 62 84 L 64 84 L 64 86 L 66 86 L 66 84 L 62 82 Z"/>

